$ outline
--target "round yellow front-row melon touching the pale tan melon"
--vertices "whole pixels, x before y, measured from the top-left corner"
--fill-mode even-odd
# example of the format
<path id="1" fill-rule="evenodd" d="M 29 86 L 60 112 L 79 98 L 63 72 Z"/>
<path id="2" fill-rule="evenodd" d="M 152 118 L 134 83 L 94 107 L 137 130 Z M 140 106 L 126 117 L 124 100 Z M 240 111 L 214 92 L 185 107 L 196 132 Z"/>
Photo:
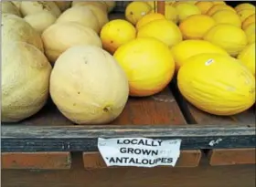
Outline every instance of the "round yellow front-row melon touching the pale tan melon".
<path id="1" fill-rule="evenodd" d="M 155 38 L 136 38 L 119 47 L 114 56 L 129 80 L 130 96 L 145 97 L 162 91 L 174 76 L 170 49 Z"/>

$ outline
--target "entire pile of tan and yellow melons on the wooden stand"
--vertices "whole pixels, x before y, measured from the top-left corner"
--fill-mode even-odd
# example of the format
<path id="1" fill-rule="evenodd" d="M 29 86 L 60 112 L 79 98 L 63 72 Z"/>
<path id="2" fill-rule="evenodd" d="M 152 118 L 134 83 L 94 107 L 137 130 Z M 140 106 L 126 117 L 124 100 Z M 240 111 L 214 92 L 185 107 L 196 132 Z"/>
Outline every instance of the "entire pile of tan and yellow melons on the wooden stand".
<path id="1" fill-rule="evenodd" d="M 2 122 L 35 115 L 51 98 L 77 124 L 106 124 L 129 96 L 151 97 L 177 74 L 198 109 L 233 115 L 255 102 L 255 6 L 224 2 L 2 3 Z M 195 26 L 194 23 L 197 23 Z"/>

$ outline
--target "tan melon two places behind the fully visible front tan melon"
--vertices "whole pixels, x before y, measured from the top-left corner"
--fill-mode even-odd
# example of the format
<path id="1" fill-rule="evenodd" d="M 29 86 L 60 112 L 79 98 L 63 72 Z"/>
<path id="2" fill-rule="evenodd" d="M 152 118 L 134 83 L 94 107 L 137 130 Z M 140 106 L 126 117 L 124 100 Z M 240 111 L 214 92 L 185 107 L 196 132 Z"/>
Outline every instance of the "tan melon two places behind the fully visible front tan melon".
<path id="1" fill-rule="evenodd" d="M 57 23 L 76 22 L 93 29 L 96 33 L 101 30 L 97 16 L 86 6 L 75 6 L 66 10 L 56 21 Z"/>

